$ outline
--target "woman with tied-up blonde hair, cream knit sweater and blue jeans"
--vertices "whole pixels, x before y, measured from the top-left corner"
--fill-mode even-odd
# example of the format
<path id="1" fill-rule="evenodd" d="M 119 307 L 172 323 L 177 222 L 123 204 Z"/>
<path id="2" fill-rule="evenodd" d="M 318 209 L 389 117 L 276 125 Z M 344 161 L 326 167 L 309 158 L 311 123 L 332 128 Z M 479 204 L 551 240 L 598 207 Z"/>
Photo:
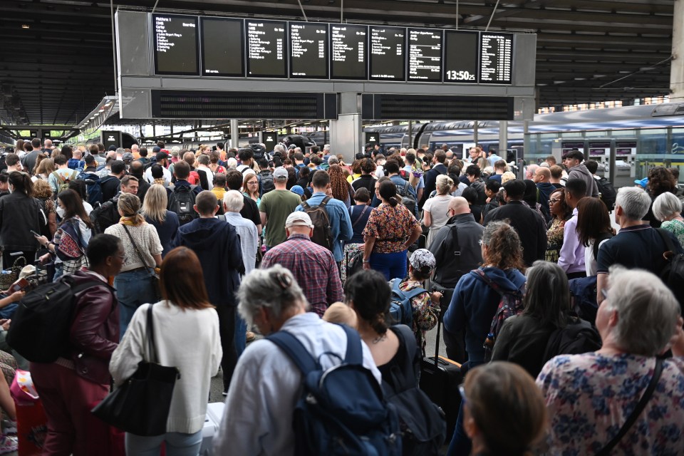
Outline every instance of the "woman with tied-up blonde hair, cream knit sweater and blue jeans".
<path id="1" fill-rule="evenodd" d="M 120 336 L 123 336 L 135 309 L 142 304 L 157 302 L 157 290 L 151 277 L 154 268 L 162 264 L 163 248 L 155 227 L 138 214 L 140 199 L 137 196 L 122 193 L 117 208 L 121 219 L 118 224 L 105 229 L 105 234 L 121 239 L 124 247 L 123 266 L 114 278 L 120 305 Z"/>

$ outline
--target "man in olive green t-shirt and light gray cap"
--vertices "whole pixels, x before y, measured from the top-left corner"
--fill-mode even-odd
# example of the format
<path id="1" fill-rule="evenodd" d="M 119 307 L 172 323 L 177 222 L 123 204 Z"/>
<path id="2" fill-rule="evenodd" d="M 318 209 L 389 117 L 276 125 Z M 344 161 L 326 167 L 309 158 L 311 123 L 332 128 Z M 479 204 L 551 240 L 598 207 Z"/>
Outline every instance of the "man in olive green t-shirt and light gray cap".
<path id="1" fill-rule="evenodd" d="M 261 224 L 266 227 L 266 247 L 276 247 L 287 240 L 285 234 L 285 220 L 301 204 L 298 195 L 286 190 L 287 170 L 278 167 L 273 172 L 273 182 L 276 190 L 264 194 L 259 203 Z"/>

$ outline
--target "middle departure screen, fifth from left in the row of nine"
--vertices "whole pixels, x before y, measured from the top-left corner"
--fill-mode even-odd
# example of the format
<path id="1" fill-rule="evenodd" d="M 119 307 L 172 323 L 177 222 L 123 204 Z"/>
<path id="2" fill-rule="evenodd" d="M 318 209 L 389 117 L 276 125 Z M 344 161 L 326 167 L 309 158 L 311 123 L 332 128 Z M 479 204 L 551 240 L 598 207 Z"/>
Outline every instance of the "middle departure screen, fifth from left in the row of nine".
<path id="1" fill-rule="evenodd" d="M 331 78 L 368 78 L 368 26 L 330 24 Z"/>

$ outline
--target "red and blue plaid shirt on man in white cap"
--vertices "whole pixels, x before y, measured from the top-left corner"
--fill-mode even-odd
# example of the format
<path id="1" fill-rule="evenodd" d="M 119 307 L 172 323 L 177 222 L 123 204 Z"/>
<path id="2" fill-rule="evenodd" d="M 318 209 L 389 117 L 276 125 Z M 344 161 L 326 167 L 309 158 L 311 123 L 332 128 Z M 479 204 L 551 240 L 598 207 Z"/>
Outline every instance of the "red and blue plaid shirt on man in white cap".
<path id="1" fill-rule="evenodd" d="M 332 252 L 311 242 L 306 234 L 291 234 L 264 255 L 261 268 L 280 264 L 289 269 L 304 291 L 311 311 L 319 316 L 330 304 L 342 301 L 342 282 Z"/>

